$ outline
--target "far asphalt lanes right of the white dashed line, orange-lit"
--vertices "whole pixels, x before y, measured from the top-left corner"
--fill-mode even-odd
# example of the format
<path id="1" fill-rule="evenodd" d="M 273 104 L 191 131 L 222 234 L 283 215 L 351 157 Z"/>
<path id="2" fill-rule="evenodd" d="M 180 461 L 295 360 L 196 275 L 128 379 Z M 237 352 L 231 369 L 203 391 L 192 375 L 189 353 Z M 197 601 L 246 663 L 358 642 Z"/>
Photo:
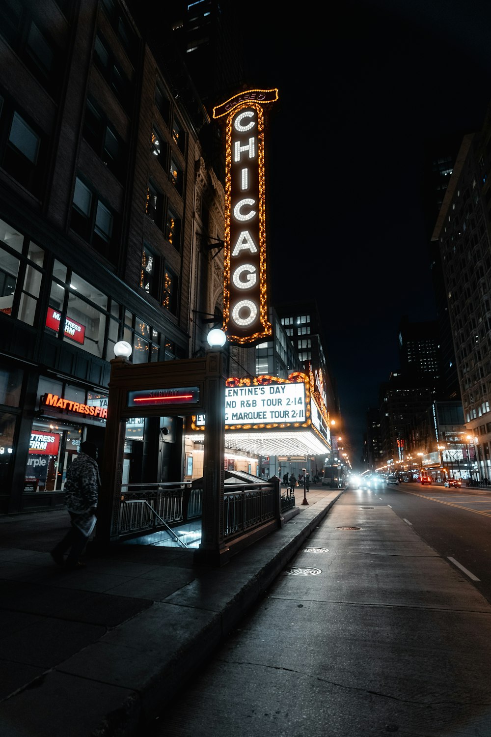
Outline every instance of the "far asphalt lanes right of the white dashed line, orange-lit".
<path id="1" fill-rule="evenodd" d="M 459 570 L 463 567 L 464 575 L 491 603 L 491 491 L 473 494 L 400 483 L 354 493 L 363 501 L 376 497 L 389 504 L 437 553 Z"/>

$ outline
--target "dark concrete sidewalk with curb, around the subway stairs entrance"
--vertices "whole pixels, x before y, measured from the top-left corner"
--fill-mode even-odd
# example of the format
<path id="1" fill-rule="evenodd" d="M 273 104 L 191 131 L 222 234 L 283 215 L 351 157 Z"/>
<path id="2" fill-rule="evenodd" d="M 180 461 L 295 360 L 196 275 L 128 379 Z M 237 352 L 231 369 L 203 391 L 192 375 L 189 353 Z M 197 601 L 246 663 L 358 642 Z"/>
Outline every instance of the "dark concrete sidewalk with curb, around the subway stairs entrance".
<path id="1" fill-rule="evenodd" d="M 67 572 L 49 551 L 68 513 L 0 517 L 2 737 L 148 733 L 341 494 L 295 489 L 300 513 L 220 569 L 121 545 Z"/>

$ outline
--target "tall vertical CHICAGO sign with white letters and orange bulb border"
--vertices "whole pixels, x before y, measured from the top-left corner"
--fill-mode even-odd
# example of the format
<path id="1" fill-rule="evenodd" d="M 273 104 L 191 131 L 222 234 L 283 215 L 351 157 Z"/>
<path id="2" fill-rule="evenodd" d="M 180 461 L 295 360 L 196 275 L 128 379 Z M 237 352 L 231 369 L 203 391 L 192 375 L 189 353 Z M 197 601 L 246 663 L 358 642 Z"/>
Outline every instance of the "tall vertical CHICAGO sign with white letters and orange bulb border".
<path id="1" fill-rule="evenodd" d="M 223 329 L 230 343 L 271 335 L 266 285 L 264 106 L 278 90 L 250 90 L 213 108 L 227 127 Z"/>

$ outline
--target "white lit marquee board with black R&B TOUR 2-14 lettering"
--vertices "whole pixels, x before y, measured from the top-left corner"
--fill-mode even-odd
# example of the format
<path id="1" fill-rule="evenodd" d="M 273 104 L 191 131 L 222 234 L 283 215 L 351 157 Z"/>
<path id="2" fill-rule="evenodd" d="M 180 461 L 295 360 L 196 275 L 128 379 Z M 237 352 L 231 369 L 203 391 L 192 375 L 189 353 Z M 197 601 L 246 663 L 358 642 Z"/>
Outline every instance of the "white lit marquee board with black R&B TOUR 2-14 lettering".
<path id="1" fill-rule="evenodd" d="M 305 384 L 269 384 L 225 389 L 225 425 L 305 422 Z M 197 425 L 205 425 L 198 415 Z"/>

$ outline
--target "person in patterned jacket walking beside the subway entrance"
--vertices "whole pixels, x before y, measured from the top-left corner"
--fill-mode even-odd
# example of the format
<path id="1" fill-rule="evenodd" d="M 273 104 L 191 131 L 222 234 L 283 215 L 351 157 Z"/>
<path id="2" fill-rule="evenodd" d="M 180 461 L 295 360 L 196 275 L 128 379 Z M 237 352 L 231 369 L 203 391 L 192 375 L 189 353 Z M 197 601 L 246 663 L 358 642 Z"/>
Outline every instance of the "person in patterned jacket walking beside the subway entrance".
<path id="1" fill-rule="evenodd" d="M 80 445 L 80 453 L 66 472 L 65 506 L 71 518 L 71 528 L 51 551 L 57 565 L 68 570 L 85 568 L 80 556 L 96 526 L 97 497 L 101 480 L 97 466 L 97 447 L 86 441 Z M 69 549 L 66 562 L 63 553 Z"/>

